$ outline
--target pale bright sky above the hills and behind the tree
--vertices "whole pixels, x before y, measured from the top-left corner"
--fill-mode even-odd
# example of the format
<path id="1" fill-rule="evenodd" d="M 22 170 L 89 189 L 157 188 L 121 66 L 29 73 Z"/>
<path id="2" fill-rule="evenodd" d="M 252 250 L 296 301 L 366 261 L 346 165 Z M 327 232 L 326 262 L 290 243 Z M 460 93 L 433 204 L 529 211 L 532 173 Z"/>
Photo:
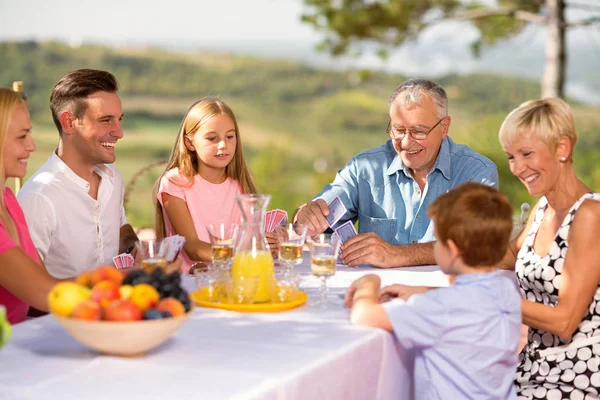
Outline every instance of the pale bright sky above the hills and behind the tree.
<path id="1" fill-rule="evenodd" d="M 439 76 L 484 70 L 537 80 L 542 73 L 545 39 L 542 27 L 530 26 L 520 36 L 475 58 L 468 43 L 477 37 L 477 32 L 468 23 L 443 23 L 423 32 L 418 42 L 394 51 L 384 62 L 369 53 L 359 58 L 332 58 L 316 52 L 322 34 L 300 21 L 304 10 L 302 0 L 169 0 L 157 3 L 161 6 L 154 3 L 0 0 L 0 40 L 59 39 L 72 44 L 212 50 L 407 75 Z M 583 78 L 585 68 L 600 65 L 600 29 L 570 31 L 568 43 L 567 94 L 600 105 L 600 90 L 591 89 Z"/>

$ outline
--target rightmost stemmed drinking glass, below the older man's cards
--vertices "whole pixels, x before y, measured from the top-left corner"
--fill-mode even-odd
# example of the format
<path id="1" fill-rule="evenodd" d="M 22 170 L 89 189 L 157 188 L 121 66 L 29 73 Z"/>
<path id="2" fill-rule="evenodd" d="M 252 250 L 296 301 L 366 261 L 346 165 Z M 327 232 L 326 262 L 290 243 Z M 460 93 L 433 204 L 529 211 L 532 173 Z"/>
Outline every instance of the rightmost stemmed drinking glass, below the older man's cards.
<path id="1" fill-rule="evenodd" d="M 310 270 L 312 274 L 321 279 L 319 289 L 320 301 L 318 304 L 327 306 L 327 279 L 335 275 L 336 255 L 340 249 L 339 235 L 321 233 L 309 241 L 310 245 Z"/>

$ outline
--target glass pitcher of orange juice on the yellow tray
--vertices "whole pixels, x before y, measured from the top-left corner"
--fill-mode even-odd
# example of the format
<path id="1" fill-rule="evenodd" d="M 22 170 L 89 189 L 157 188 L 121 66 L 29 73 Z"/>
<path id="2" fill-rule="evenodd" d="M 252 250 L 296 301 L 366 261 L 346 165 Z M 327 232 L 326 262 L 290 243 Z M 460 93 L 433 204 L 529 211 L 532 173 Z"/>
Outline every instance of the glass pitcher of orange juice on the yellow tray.
<path id="1" fill-rule="evenodd" d="M 273 257 L 265 237 L 265 215 L 271 196 L 244 194 L 235 200 L 242 210 L 242 229 L 235 248 L 231 276 L 234 285 L 241 284 L 243 279 L 240 277 L 257 276 L 254 303 L 266 303 L 271 300 L 270 285 L 274 272 Z"/>

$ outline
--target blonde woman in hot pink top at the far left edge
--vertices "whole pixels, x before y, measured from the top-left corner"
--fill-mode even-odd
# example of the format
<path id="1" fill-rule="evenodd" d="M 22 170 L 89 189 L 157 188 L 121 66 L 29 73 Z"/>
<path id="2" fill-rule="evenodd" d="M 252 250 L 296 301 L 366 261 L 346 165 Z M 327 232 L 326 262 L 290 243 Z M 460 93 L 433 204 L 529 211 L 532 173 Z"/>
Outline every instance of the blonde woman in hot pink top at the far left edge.
<path id="1" fill-rule="evenodd" d="M 23 211 L 6 187 L 7 178 L 23 178 L 35 151 L 29 111 L 20 94 L 0 89 L 0 304 L 8 321 L 25 320 L 29 305 L 48 310 L 47 298 L 57 283 L 38 258 Z"/>

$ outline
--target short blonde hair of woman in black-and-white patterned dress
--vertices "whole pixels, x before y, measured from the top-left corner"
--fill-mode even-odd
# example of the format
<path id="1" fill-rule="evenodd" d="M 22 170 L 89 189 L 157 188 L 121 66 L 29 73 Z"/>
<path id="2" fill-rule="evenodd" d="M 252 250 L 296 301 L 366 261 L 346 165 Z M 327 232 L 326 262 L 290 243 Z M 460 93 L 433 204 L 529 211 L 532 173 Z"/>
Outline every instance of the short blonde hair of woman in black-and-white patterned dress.
<path id="1" fill-rule="evenodd" d="M 573 161 L 573 149 L 577 143 L 575 122 L 571 107 L 559 98 L 529 100 L 515 108 L 504 119 L 498 138 L 506 148 L 517 138 L 533 134 L 548 146 L 556 150 L 564 136 L 571 142 L 568 161 Z"/>

